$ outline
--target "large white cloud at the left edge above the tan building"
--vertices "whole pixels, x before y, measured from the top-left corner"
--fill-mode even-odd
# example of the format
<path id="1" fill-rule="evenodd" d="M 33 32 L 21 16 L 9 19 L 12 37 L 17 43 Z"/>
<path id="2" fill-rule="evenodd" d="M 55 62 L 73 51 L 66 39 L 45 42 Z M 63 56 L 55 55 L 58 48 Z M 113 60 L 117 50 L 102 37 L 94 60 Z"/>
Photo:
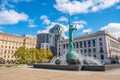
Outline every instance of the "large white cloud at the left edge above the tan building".
<path id="1" fill-rule="evenodd" d="M 15 10 L 5 10 L 0 12 L 0 24 L 16 24 L 19 21 L 26 21 L 28 19 L 28 15 L 25 13 L 18 13 Z"/>

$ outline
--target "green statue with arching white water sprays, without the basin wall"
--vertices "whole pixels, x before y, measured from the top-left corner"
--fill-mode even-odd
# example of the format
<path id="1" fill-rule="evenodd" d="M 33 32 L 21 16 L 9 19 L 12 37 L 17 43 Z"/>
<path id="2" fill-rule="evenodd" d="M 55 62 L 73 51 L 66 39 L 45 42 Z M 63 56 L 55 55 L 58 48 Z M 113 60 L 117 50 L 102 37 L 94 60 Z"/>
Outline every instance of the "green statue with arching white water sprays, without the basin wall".
<path id="1" fill-rule="evenodd" d="M 100 61 L 97 61 L 93 58 L 90 57 L 85 57 L 83 55 L 77 54 L 76 51 L 74 50 L 73 46 L 73 31 L 77 30 L 77 28 L 70 24 L 69 21 L 69 50 L 66 54 L 59 56 L 59 57 L 54 57 L 51 60 L 51 64 L 62 64 L 62 65 L 102 65 Z"/>

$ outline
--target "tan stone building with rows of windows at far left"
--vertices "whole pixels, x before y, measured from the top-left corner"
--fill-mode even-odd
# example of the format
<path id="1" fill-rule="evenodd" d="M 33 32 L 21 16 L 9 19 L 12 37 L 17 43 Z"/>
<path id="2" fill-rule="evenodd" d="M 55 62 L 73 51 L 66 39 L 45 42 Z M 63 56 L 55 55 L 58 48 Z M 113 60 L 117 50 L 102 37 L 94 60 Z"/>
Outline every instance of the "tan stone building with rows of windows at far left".
<path id="1" fill-rule="evenodd" d="M 36 38 L 0 33 L 0 62 L 14 63 L 14 53 L 21 46 L 36 48 Z"/>

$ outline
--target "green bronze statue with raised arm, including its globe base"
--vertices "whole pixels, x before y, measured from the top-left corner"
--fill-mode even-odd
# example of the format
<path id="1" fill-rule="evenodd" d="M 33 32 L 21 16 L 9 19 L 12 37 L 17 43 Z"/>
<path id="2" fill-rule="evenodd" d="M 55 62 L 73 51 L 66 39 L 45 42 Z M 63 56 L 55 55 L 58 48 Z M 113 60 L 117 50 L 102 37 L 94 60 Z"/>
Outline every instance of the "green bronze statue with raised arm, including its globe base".
<path id="1" fill-rule="evenodd" d="M 69 21 L 69 50 L 66 54 L 66 61 L 69 65 L 80 64 L 78 54 L 74 51 L 73 46 L 73 31 L 77 30 L 76 26 L 70 24 Z"/>

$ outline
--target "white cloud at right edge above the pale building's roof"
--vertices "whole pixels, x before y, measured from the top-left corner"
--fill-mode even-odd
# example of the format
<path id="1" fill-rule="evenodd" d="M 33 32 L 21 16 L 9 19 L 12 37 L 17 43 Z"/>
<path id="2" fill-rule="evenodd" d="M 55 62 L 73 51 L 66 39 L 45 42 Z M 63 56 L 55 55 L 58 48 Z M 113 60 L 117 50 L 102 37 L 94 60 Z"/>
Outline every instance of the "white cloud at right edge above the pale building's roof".
<path id="1" fill-rule="evenodd" d="M 107 26 L 101 27 L 100 30 L 105 30 L 114 37 L 120 37 L 120 23 L 109 23 Z"/>

